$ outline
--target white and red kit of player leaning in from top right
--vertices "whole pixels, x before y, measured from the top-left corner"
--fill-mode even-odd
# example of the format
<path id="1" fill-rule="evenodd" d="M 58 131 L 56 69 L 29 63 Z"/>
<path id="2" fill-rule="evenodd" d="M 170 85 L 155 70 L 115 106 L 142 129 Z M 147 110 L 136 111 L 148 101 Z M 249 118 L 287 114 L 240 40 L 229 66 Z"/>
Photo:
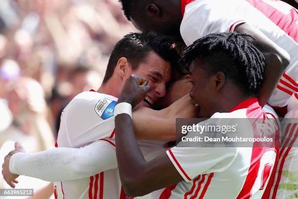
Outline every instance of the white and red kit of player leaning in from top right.
<path id="1" fill-rule="evenodd" d="M 291 61 L 268 103 L 279 112 L 280 116 L 286 115 L 287 112 L 298 112 L 297 106 L 289 104 L 290 101 L 293 104 L 290 98 L 291 96 L 292 99 L 295 98 L 293 96 L 298 92 L 297 9 L 280 0 L 182 0 L 182 13 L 184 18 L 180 32 L 186 45 L 210 33 L 233 32 L 238 24 L 247 22 L 285 49 Z M 289 131 L 288 134 L 292 132 L 292 128 L 285 130 Z M 293 127 L 291 135 L 294 139 L 297 131 Z M 297 188 L 289 188 L 298 186 L 297 178 L 291 178 L 291 184 L 288 184 L 288 175 L 298 171 L 298 149 L 290 147 L 281 149 L 281 152 L 278 177 L 271 190 L 272 199 L 285 199 L 289 194 L 295 197 L 298 195 Z M 291 156 L 287 158 L 289 154 Z"/>

